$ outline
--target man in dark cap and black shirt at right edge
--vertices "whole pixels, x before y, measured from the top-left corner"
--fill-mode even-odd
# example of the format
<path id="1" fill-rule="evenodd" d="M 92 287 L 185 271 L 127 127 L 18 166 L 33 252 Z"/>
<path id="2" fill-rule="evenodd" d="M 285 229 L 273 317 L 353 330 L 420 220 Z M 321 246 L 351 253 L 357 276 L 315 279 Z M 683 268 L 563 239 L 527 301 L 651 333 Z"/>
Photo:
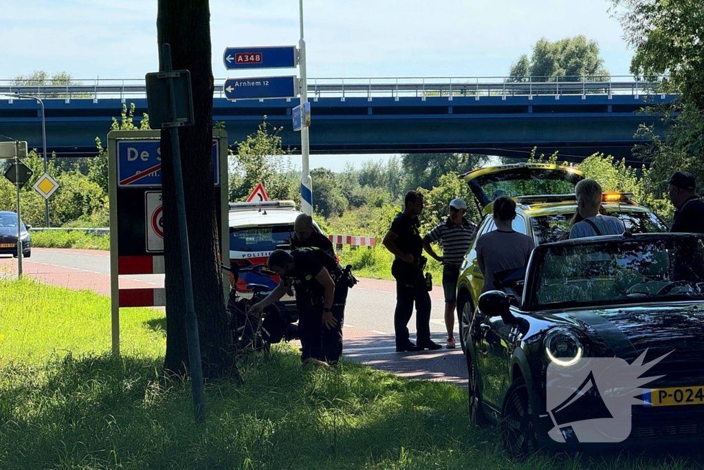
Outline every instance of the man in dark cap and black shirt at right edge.
<path id="1" fill-rule="evenodd" d="M 704 202 L 694 193 L 696 182 L 693 175 L 678 171 L 669 183 L 670 202 L 677 209 L 670 232 L 704 233 Z"/>

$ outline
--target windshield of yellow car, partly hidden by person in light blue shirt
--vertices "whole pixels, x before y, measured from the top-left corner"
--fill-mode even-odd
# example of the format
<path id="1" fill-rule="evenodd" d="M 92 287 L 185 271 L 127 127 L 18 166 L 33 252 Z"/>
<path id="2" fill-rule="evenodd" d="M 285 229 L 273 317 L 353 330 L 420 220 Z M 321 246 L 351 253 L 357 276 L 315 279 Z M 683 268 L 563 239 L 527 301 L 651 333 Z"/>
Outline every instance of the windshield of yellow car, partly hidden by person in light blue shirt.
<path id="1" fill-rule="evenodd" d="M 606 214 L 620 218 L 626 226 L 627 233 L 664 233 L 668 231 L 667 225 L 662 223 L 652 212 L 606 211 Z M 536 245 L 558 242 L 567 238 L 570 233 L 572 215 L 572 213 L 566 213 L 531 217 Z"/>

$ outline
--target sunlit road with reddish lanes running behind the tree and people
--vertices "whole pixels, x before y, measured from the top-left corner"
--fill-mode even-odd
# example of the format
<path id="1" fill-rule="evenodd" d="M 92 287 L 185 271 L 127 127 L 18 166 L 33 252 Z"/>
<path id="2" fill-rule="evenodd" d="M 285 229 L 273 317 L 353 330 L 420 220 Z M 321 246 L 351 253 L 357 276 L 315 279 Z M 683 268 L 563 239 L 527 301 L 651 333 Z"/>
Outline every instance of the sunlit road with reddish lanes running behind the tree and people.
<path id="1" fill-rule="evenodd" d="M 17 260 L 0 258 L 0 272 L 17 272 Z M 108 252 L 74 249 L 32 248 L 32 257 L 23 260 L 23 273 L 46 283 L 72 289 L 90 289 L 110 295 L 110 257 Z M 7 276 L 7 274 L 6 274 Z M 120 276 L 120 287 L 163 287 L 163 275 Z M 467 385 L 465 357 L 459 348 L 446 350 L 444 299 L 441 287 L 430 292 L 432 312 L 430 330 L 443 349 L 429 352 L 397 353 L 394 346 L 394 308 L 396 287 L 393 281 L 360 279 L 349 291 L 345 310 L 343 355 L 351 361 L 408 378 L 449 381 Z M 457 331 L 455 321 L 455 332 Z M 415 312 L 408 324 L 415 342 Z"/>

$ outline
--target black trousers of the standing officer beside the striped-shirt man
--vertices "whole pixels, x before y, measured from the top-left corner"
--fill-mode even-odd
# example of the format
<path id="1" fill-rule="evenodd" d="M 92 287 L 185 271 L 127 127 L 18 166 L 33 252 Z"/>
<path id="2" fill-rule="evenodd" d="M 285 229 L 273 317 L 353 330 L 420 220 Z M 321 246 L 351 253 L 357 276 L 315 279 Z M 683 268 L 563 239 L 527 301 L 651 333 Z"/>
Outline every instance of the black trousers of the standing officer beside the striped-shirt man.
<path id="1" fill-rule="evenodd" d="M 415 304 L 415 330 L 417 345 L 427 345 L 430 342 L 430 295 L 425 286 L 422 274 L 408 276 L 404 266 L 391 267 L 391 273 L 396 278 L 396 311 L 394 312 L 394 330 L 396 331 L 396 347 L 403 347 L 410 342 L 408 321 L 413 315 Z M 406 263 L 408 270 L 410 264 Z M 420 271 L 419 271 L 420 272 Z"/>

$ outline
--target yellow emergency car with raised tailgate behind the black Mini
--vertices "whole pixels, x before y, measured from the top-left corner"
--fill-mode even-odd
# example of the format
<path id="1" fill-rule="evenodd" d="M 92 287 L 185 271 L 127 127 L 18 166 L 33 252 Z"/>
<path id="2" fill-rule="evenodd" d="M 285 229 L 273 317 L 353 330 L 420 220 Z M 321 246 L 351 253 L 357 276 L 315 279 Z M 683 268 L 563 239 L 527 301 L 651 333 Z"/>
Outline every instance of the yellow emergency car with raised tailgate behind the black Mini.
<path id="1" fill-rule="evenodd" d="M 470 187 L 474 203 L 483 214 L 477 237 L 460 266 L 457 284 L 460 344 L 465 350 L 469 321 L 484 285 L 474 245 L 484 233 L 496 230 L 492 216 L 494 199 L 505 195 L 516 201 L 513 230 L 532 237 L 536 246 L 556 242 L 570 233 L 570 220 L 577 210 L 574 186 L 584 179 L 584 173 L 571 166 L 551 163 L 515 163 L 480 168 L 460 178 Z M 667 225 L 653 211 L 639 206 L 631 193 L 604 193 L 601 205 L 607 215 L 621 219 L 627 233 L 668 231 Z"/>

